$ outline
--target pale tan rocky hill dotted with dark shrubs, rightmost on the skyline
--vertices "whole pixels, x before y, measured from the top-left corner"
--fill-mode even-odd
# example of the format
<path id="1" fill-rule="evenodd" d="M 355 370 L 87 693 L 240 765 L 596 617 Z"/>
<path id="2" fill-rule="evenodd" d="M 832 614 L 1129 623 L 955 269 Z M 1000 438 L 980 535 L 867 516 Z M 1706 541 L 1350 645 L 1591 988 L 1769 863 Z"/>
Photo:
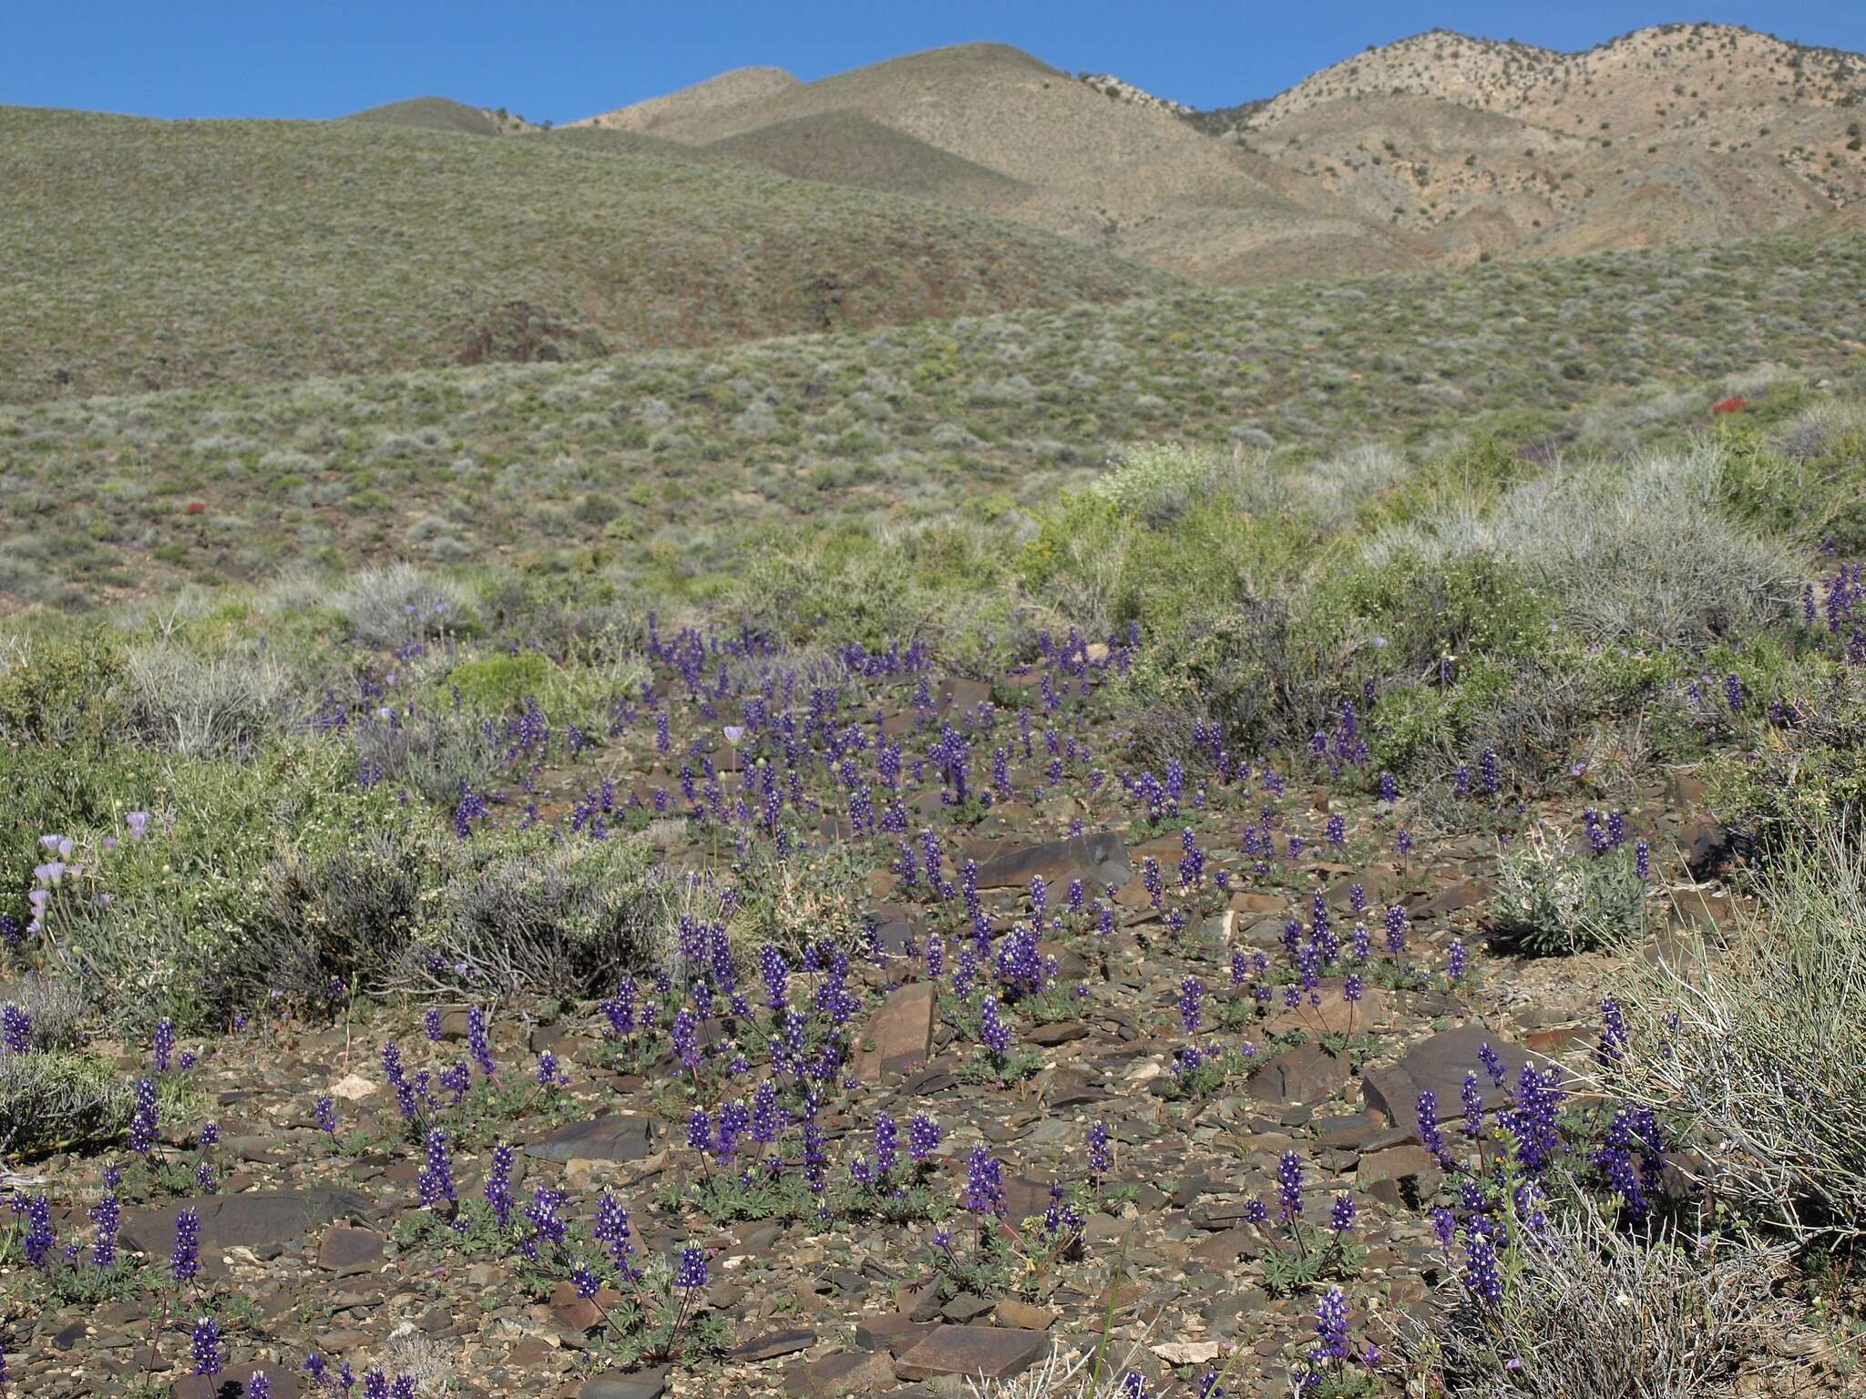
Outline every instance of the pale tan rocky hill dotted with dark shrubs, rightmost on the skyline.
<path id="1" fill-rule="evenodd" d="M 1586 54 L 1441 32 L 1325 69 L 1233 138 L 1431 256 L 1702 242 L 1866 198 L 1838 106 L 1860 75 L 1859 54 L 1719 26 Z"/>

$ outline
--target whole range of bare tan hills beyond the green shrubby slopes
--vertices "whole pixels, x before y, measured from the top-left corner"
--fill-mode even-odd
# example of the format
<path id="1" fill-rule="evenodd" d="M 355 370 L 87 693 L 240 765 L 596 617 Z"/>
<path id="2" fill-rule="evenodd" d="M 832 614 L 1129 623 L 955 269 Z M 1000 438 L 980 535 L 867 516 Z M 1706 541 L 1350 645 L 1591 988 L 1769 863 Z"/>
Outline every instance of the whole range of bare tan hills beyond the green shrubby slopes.
<path id="1" fill-rule="evenodd" d="M 741 69 L 593 121 L 1004 215 L 1211 282 L 1700 242 L 1866 198 L 1866 58 L 1707 24 L 1584 54 L 1431 32 L 1226 112 L 968 43 Z"/>

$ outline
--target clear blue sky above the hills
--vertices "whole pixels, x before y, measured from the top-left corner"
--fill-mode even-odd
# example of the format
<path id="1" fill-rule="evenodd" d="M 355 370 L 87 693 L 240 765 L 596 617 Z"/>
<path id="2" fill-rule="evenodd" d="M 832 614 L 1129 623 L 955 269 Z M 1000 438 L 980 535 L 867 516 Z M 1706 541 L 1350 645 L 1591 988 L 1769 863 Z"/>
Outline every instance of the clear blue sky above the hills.
<path id="1" fill-rule="evenodd" d="M 0 103 L 142 116 L 328 118 L 439 93 L 565 121 L 769 63 L 819 78 L 896 54 L 1000 39 L 1163 97 L 1269 97 L 1370 43 L 1433 26 L 1588 48 L 1666 21 L 1720 21 L 1866 50 L 1866 0 L 1651 4 L 1407 0 L 95 0 L 9 9 Z"/>

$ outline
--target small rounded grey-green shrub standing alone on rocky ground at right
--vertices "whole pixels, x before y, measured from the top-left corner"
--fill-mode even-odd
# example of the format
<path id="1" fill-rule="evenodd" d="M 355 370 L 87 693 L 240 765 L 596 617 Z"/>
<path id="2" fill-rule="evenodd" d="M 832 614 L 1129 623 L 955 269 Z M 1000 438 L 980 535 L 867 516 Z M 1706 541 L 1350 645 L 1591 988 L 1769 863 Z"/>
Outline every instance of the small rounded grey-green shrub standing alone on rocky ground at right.
<path id="1" fill-rule="evenodd" d="M 1530 830 L 1497 864 L 1497 936 L 1536 957 L 1625 948 L 1646 931 L 1646 882 L 1629 851 L 1577 854 Z"/>

